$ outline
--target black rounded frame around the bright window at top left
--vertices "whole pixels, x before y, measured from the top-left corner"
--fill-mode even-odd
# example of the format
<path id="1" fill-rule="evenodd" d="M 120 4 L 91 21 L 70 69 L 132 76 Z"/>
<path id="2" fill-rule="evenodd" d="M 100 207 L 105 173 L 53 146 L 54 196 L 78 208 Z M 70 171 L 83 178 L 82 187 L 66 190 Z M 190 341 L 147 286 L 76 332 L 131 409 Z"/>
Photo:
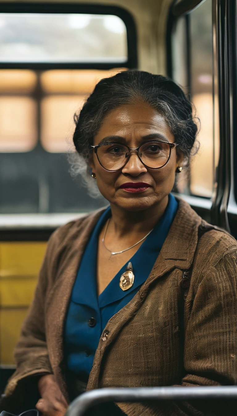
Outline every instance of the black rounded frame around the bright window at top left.
<path id="1" fill-rule="evenodd" d="M 122 7 L 84 3 L 12 3 L 0 2 L 0 13 L 93 14 L 115 15 L 127 30 L 127 61 L 125 62 L 1 62 L 2 69 L 111 69 L 137 68 L 137 31 L 132 15 Z"/>

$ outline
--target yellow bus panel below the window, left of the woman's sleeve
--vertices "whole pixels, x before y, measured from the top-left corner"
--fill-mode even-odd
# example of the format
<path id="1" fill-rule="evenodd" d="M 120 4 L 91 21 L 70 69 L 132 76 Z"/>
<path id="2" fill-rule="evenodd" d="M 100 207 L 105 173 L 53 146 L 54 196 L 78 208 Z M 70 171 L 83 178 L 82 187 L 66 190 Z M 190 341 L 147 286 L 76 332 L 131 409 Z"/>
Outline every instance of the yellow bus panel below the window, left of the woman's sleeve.
<path id="1" fill-rule="evenodd" d="M 0 364 L 13 350 L 34 295 L 46 242 L 0 243 Z"/>

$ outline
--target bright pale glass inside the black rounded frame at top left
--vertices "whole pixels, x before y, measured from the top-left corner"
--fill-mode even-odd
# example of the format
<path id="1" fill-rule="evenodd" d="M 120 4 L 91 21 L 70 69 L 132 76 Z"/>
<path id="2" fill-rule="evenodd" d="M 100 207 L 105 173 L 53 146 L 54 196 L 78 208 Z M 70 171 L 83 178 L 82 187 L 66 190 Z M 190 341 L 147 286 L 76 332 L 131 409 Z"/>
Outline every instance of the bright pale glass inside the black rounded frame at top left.
<path id="1" fill-rule="evenodd" d="M 126 62 L 115 15 L 0 13 L 0 62 Z"/>

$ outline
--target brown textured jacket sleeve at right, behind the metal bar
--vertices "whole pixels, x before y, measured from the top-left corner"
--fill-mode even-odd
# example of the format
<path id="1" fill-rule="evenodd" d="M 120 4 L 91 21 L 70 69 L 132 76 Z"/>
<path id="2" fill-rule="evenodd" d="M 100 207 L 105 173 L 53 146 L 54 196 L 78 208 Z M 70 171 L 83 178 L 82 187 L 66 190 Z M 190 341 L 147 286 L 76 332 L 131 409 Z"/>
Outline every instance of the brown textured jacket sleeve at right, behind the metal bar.
<path id="1" fill-rule="evenodd" d="M 236 246 L 217 264 L 210 265 L 208 274 L 200 273 L 193 294 L 188 293 L 185 308 L 185 375 L 180 386 L 237 384 Z M 126 404 L 126 410 L 119 405 L 131 416 L 232 416 L 237 409 L 237 401 L 230 400 L 140 403 L 139 413 L 136 404 Z"/>

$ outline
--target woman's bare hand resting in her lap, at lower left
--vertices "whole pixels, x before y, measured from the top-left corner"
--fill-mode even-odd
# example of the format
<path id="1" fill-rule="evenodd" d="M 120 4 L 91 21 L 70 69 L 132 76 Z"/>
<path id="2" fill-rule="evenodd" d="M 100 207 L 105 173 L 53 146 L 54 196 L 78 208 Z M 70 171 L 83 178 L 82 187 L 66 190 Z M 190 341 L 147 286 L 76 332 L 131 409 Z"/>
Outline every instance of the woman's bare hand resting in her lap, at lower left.
<path id="1" fill-rule="evenodd" d="M 46 374 L 38 381 L 39 394 L 42 399 L 36 409 L 46 416 L 64 416 L 68 404 L 55 381 L 53 374 Z"/>

